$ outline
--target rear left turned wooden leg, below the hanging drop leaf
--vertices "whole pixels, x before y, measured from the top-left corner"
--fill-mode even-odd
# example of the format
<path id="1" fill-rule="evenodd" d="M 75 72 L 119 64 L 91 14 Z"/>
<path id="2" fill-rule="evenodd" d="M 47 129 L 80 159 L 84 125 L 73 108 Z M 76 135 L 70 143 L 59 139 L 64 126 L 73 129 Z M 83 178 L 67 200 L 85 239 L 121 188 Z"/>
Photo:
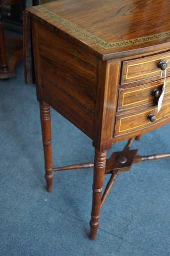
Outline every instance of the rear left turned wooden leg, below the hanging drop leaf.
<path id="1" fill-rule="evenodd" d="M 47 191 L 53 189 L 52 170 L 52 140 L 51 140 L 51 117 L 50 106 L 46 103 L 40 104 L 41 128 L 43 136 L 44 159 L 45 159 L 45 179 L 47 181 Z"/>

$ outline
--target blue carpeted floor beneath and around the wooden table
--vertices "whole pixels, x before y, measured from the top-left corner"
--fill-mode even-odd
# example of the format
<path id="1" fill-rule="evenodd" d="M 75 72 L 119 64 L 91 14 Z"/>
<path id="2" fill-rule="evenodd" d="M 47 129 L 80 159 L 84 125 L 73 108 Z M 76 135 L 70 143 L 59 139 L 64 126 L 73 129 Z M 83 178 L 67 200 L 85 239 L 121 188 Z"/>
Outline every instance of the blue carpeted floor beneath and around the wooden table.
<path id="1" fill-rule="evenodd" d="M 93 161 L 92 141 L 51 115 L 54 167 Z M 141 155 L 169 152 L 170 124 L 144 134 L 138 147 Z M 46 192 L 36 89 L 24 83 L 20 63 L 15 78 L 0 80 L 0 256 L 170 255 L 170 158 L 119 175 L 96 241 L 88 238 L 92 179 L 92 169 L 56 172 Z"/>

